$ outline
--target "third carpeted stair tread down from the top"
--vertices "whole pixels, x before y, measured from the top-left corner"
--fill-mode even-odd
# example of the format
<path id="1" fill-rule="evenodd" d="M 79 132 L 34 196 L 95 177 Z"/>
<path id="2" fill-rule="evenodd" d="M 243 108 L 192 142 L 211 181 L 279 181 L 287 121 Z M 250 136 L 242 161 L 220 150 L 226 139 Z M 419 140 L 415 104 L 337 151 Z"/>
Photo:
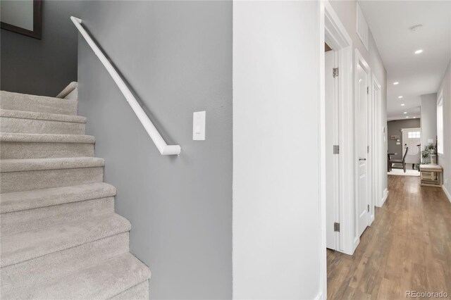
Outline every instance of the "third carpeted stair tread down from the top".
<path id="1" fill-rule="evenodd" d="M 30 170 L 59 170 L 72 168 L 103 167 L 104 158 L 68 157 L 68 158 L 23 158 L 2 159 L 0 172 L 18 172 Z"/>

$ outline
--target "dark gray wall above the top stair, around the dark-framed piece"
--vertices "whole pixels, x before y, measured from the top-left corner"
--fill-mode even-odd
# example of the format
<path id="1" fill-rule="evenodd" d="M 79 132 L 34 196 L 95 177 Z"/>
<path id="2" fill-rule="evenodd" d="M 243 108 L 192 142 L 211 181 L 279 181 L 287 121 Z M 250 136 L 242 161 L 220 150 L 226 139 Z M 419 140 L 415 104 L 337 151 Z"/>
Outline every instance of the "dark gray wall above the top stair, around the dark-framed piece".
<path id="1" fill-rule="evenodd" d="M 80 1 L 43 1 L 42 39 L 1 30 L 0 89 L 56 96 L 77 81 L 78 34 L 69 17 L 79 8 Z"/>

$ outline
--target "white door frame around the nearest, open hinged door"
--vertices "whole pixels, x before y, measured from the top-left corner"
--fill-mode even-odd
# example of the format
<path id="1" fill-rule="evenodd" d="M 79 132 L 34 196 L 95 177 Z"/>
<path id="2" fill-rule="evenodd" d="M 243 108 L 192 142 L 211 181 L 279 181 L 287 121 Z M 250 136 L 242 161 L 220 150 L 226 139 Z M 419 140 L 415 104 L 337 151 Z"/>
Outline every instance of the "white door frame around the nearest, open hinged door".
<path id="1" fill-rule="evenodd" d="M 352 95 L 352 39 L 345 26 L 327 0 L 319 2 L 319 221 L 321 238 L 319 239 L 320 255 L 320 292 L 316 299 L 327 298 L 327 261 L 326 261 L 326 99 L 325 99 L 325 63 L 324 43 L 337 51 L 338 80 L 338 114 L 340 136 L 340 186 L 339 216 L 340 239 L 338 251 L 345 254 L 354 252 L 352 232 L 354 227 L 354 97 Z"/>

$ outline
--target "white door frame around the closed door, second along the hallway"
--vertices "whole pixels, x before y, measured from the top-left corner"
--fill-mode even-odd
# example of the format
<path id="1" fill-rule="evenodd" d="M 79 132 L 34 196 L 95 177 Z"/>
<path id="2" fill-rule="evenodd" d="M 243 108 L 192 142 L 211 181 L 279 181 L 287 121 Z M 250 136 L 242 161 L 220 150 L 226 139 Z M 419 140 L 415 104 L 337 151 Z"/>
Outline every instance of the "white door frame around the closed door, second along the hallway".
<path id="1" fill-rule="evenodd" d="M 359 49 L 354 49 L 354 70 L 357 71 L 357 66 L 360 65 L 362 66 L 362 69 L 364 70 L 364 72 L 366 73 L 366 83 L 368 85 L 368 88 L 371 87 L 371 68 L 369 67 L 369 64 L 366 63 L 365 58 L 362 56 L 362 54 L 360 53 Z M 357 134 L 357 120 L 356 120 L 356 116 L 358 115 L 358 107 L 357 107 L 357 101 L 359 101 L 359 99 L 357 99 L 358 97 L 358 82 L 357 82 L 357 75 L 356 72 L 354 72 L 354 136 L 355 136 L 355 143 L 354 143 L 354 182 L 355 182 L 355 189 L 354 189 L 354 195 L 355 195 L 355 210 L 354 210 L 354 224 L 356 225 L 354 227 L 354 249 L 357 248 L 357 245 L 360 242 L 360 235 L 359 235 L 359 209 L 358 209 L 358 202 L 359 202 L 359 140 L 358 140 L 358 134 Z M 371 94 L 368 93 L 368 105 L 366 106 L 366 122 L 367 122 L 367 127 L 366 127 L 366 132 L 368 132 L 368 139 L 367 141 L 367 146 L 370 146 L 371 149 L 371 131 L 370 131 L 370 125 L 371 122 L 369 122 L 369 120 L 371 120 L 371 114 L 369 113 L 371 108 Z M 369 154 L 369 153 L 368 153 Z M 370 208 L 372 207 L 374 209 L 374 203 L 373 203 L 373 199 L 371 199 L 371 187 L 369 187 L 369 182 L 372 182 L 372 173 L 373 170 L 371 168 L 371 164 L 372 164 L 372 160 L 371 160 L 371 156 L 367 155 L 366 156 L 366 199 L 367 199 L 367 205 L 370 206 Z M 370 218 L 368 218 L 368 223 L 366 224 L 367 226 L 371 225 L 371 211 L 370 211 Z"/>

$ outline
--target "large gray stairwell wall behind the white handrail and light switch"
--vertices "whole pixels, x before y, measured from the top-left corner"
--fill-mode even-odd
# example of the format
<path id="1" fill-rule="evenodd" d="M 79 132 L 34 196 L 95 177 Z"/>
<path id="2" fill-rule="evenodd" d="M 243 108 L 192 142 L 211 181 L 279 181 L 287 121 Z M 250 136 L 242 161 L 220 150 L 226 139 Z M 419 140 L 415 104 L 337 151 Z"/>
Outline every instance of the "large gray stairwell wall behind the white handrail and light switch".
<path id="1" fill-rule="evenodd" d="M 80 18 L 180 157 L 161 156 L 79 40 L 79 111 L 106 158 L 152 299 L 232 296 L 232 2 L 87 1 Z M 206 111 L 206 141 L 192 113 Z"/>

